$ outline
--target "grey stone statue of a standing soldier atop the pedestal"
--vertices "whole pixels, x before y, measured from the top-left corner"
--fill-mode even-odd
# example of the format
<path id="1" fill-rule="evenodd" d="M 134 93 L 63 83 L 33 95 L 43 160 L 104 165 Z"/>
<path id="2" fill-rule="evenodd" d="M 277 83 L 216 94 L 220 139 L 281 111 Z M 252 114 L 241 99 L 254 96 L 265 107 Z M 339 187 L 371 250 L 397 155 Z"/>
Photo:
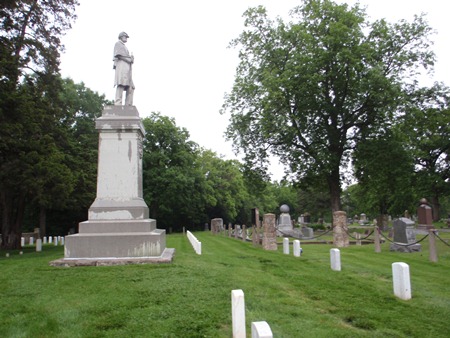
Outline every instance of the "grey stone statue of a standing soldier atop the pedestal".
<path id="1" fill-rule="evenodd" d="M 122 105 L 122 95 L 125 91 L 125 105 L 133 105 L 134 83 L 131 75 L 131 66 L 134 63 L 134 56 L 130 55 L 125 43 L 129 36 L 125 32 L 119 34 L 119 41 L 114 45 L 114 69 L 116 70 L 114 86 L 116 86 L 116 98 L 114 104 Z"/>

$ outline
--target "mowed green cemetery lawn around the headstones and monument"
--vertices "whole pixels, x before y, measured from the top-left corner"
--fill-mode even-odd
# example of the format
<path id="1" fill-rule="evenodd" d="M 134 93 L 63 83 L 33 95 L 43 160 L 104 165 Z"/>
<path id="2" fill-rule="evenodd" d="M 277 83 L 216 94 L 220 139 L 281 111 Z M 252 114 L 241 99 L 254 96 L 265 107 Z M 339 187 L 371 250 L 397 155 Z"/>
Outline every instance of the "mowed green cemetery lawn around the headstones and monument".
<path id="1" fill-rule="evenodd" d="M 172 264 L 55 268 L 62 247 L 0 257 L 1 337 L 231 337 L 231 290 L 245 294 L 247 336 L 267 321 L 274 337 L 449 337 L 450 247 L 439 261 L 395 253 L 389 243 L 341 248 L 330 269 L 327 244 L 300 258 L 196 232 L 202 255 L 167 236 Z M 447 237 L 445 237 L 447 235 Z M 450 234 L 442 234 L 450 238 Z M 393 262 L 410 266 L 412 299 L 393 295 Z"/>

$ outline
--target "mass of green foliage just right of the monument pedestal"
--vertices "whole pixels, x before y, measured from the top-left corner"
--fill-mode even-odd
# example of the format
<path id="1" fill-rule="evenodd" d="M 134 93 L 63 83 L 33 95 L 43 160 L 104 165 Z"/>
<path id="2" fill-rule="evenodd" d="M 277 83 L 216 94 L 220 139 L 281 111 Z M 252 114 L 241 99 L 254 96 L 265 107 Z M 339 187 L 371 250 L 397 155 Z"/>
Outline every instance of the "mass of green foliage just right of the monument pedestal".
<path id="1" fill-rule="evenodd" d="M 189 140 L 167 116 L 144 119 L 144 198 L 163 228 L 202 227 L 212 218 L 244 221 L 248 193 L 240 163 Z"/>

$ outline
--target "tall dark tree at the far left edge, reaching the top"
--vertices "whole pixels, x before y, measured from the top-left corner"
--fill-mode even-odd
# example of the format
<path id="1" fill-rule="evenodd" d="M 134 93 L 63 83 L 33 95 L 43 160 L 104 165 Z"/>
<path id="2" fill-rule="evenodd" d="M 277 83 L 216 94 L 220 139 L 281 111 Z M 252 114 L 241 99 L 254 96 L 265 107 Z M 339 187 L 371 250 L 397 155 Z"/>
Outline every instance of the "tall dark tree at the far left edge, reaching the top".
<path id="1" fill-rule="evenodd" d="M 2 247 L 20 247 L 26 202 L 47 183 L 46 153 L 57 166 L 54 124 L 60 37 L 75 19 L 76 0 L 7 1 L 0 8 L 0 213 Z M 56 167 L 54 168 L 56 169 Z M 63 169 L 63 168 L 60 168 Z M 33 177 L 39 177 L 32 180 Z M 70 186 L 67 190 L 70 191 Z"/>

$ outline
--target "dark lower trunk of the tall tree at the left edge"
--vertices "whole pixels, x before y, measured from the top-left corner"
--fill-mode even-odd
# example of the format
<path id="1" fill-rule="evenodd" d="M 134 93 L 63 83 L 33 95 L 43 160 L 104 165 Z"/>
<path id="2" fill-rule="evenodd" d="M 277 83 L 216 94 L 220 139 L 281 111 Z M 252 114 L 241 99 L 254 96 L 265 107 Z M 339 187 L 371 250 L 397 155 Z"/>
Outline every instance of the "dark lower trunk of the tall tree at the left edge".
<path id="1" fill-rule="evenodd" d="M 16 197 L 16 198 L 14 198 Z M 5 250 L 20 249 L 22 222 L 25 211 L 24 196 L 13 196 L 6 191 L 1 193 L 2 244 Z"/>

